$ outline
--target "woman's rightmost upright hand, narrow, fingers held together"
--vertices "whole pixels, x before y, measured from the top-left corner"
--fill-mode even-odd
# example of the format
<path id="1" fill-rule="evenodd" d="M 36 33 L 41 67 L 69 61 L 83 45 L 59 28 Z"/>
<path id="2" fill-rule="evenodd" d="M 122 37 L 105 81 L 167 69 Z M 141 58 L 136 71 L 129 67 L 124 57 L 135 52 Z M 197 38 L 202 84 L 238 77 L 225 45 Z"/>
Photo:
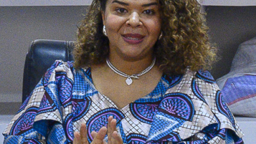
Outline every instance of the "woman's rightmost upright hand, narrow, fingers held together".
<path id="1" fill-rule="evenodd" d="M 108 117 L 108 144 L 123 144 L 123 139 L 117 133 L 116 119 Z"/>

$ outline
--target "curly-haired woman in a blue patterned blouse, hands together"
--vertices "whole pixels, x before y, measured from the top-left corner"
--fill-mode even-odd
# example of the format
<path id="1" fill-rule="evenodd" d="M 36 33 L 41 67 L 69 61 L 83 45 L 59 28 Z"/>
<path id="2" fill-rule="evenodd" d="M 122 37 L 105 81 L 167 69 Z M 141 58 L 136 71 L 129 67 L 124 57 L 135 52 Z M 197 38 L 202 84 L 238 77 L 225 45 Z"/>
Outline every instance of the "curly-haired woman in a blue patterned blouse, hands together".
<path id="1" fill-rule="evenodd" d="M 243 143 L 213 77 L 196 0 L 94 0 L 5 143 Z"/>

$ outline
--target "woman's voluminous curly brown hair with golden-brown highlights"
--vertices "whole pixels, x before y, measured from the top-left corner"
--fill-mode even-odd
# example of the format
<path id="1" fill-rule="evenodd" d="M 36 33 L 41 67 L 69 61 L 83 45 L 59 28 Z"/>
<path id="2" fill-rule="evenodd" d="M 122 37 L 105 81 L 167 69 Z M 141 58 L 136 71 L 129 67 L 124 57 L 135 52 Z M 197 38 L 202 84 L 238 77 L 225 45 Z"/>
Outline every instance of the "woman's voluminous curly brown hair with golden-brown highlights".
<path id="1" fill-rule="evenodd" d="M 101 10 L 107 0 L 94 0 L 86 18 L 78 26 L 74 66 L 104 63 L 109 54 L 108 38 L 102 33 Z M 197 0 L 159 0 L 163 36 L 154 45 L 156 62 L 167 75 L 211 69 L 217 48 L 211 46 L 205 13 Z"/>

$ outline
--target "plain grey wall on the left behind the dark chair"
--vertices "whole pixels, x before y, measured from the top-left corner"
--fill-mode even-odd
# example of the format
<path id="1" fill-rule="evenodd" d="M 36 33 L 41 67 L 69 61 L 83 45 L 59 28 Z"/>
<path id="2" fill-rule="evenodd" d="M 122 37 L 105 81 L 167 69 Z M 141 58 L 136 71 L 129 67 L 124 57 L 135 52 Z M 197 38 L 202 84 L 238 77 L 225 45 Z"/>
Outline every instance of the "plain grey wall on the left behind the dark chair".
<path id="1" fill-rule="evenodd" d="M 0 114 L 15 113 L 11 108 L 20 106 L 24 61 L 30 43 L 35 39 L 75 41 L 76 26 L 86 8 L 0 7 Z"/>

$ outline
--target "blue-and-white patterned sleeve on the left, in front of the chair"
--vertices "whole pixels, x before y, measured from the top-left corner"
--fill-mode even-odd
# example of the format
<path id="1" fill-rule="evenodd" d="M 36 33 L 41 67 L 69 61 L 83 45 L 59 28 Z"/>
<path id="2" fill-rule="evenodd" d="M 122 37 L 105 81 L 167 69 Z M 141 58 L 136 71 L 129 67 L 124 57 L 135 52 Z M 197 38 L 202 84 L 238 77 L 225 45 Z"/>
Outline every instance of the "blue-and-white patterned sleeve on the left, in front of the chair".
<path id="1" fill-rule="evenodd" d="M 3 132 L 4 143 L 67 143 L 62 105 L 72 96 L 71 63 L 56 60 Z"/>

